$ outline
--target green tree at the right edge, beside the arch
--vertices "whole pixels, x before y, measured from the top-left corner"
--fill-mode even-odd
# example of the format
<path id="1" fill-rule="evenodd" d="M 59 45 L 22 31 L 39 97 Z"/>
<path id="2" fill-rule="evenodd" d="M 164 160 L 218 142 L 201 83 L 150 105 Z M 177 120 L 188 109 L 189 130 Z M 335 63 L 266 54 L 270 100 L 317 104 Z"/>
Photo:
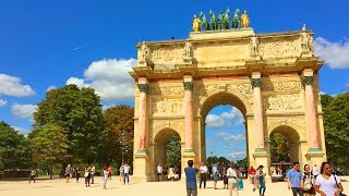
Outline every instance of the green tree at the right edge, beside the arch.
<path id="1" fill-rule="evenodd" d="M 349 93 L 321 97 L 327 158 L 345 172 L 349 171 Z"/>

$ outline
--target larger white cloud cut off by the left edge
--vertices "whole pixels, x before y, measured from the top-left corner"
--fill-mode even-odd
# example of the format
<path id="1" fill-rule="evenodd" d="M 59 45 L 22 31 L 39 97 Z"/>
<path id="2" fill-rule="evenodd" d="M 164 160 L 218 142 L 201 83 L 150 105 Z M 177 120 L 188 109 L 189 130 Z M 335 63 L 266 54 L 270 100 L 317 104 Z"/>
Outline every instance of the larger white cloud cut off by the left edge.
<path id="1" fill-rule="evenodd" d="M 0 95 L 25 97 L 35 95 L 35 91 L 29 85 L 21 84 L 20 77 L 0 74 Z"/>

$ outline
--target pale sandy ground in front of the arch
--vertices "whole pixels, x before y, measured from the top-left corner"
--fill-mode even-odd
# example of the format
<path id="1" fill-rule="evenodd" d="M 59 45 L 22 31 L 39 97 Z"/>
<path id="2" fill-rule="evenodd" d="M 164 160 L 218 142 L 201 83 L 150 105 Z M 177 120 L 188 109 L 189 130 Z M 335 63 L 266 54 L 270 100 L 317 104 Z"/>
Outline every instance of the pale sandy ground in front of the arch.
<path id="1" fill-rule="evenodd" d="M 349 176 L 341 176 L 345 193 L 349 193 Z M 82 179 L 84 180 L 84 179 Z M 252 192 L 252 185 L 244 181 L 244 191 L 239 191 L 239 196 L 257 196 L 258 193 Z M 265 196 L 291 196 L 285 182 L 266 184 Z M 122 185 L 118 176 L 108 181 L 107 189 L 103 189 L 103 179 L 96 177 L 95 184 L 85 187 L 84 182 L 72 180 L 65 183 L 63 179 L 38 180 L 36 183 L 28 181 L 0 181 L 0 196 L 185 196 L 184 182 L 149 182 L 136 183 L 132 181 L 129 185 Z M 228 196 L 228 189 L 222 189 L 222 181 L 218 182 L 218 189 L 213 188 L 213 182 L 207 182 L 205 189 L 198 189 L 198 196 Z"/>

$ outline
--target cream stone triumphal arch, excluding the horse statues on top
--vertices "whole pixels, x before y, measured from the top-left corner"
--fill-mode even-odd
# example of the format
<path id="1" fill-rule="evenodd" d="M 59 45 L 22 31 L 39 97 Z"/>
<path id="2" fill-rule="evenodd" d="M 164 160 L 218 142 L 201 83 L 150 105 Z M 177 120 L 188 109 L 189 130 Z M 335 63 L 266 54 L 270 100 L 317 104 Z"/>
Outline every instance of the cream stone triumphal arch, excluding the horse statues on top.
<path id="1" fill-rule="evenodd" d="M 182 169 L 205 160 L 205 119 L 218 105 L 245 120 L 250 166 L 270 168 L 269 135 L 285 134 L 291 161 L 326 159 L 313 32 L 255 34 L 243 27 L 191 32 L 188 39 L 137 45 L 134 176 L 154 181 L 168 138 L 181 138 Z"/>

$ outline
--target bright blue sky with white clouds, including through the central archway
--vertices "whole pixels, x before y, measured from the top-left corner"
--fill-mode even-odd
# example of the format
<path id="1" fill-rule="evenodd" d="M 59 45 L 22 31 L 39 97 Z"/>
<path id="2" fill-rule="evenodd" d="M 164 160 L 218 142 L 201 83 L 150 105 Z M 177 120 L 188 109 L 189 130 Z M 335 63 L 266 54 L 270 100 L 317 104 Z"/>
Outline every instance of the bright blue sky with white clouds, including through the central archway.
<path id="1" fill-rule="evenodd" d="M 94 87 L 105 107 L 132 106 L 133 82 L 127 72 L 136 63 L 136 42 L 186 38 L 193 14 L 207 14 L 210 9 L 218 13 L 227 7 L 248 10 L 255 33 L 300 30 L 305 23 L 315 32 L 315 53 L 326 61 L 320 77 L 322 93 L 345 93 L 349 89 L 348 5 L 346 0 L 2 1 L 0 121 L 26 134 L 45 93 L 70 83 Z M 217 107 L 209 114 L 231 111 Z M 224 125 L 207 127 L 208 139 L 236 139 L 222 131 L 241 132 L 238 125 Z M 228 155 L 221 147 L 208 148 Z"/>

